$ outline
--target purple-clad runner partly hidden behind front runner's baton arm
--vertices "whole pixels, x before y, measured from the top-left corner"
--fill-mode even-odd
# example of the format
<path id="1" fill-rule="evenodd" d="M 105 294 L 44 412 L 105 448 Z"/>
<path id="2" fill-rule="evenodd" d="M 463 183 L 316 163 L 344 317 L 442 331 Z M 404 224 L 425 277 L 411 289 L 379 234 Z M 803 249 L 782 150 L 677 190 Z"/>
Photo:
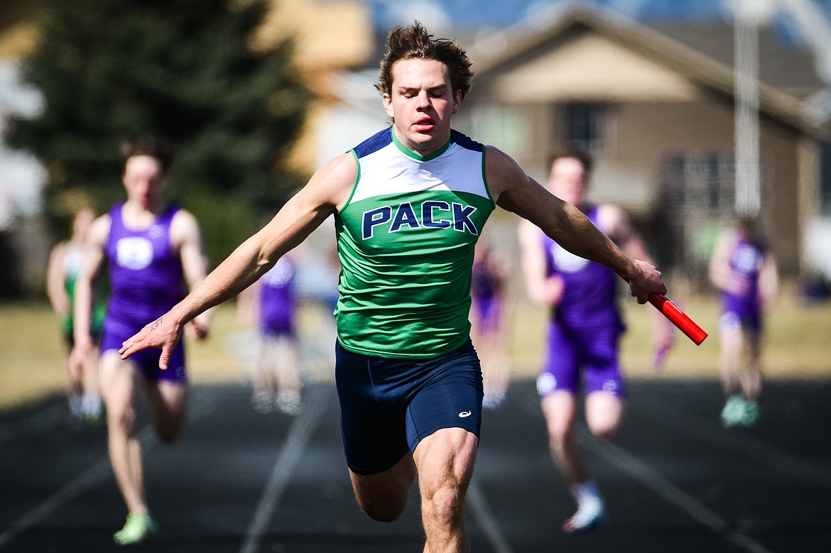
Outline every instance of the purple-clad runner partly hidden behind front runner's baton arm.
<path id="1" fill-rule="evenodd" d="M 549 192 L 580 209 L 627 255 L 652 263 L 622 209 L 586 200 L 592 169 L 588 154 L 558 152 L 548 167 Z M 554 462 L 578 507 L 563 524 L 563 531 L 585 531 L 602 522 L 604 505 L 588 476 L 574 423 L 583 387 L 586 422 L 592 433 L 612 438 L 621 423 L 625 389 L 619 343 L 625 326 L 617 307 L 619 278 L 612 269 L 568 252 L 529 221 L 519 222 L 519 243 L 526 291 L 532 301 L 551 308 L 537 391 Z M 659 311 L 650 310 L 650 316 L 653 345 L 656 352 L 665 354 L 674 343 L 673 327 Z"/>

